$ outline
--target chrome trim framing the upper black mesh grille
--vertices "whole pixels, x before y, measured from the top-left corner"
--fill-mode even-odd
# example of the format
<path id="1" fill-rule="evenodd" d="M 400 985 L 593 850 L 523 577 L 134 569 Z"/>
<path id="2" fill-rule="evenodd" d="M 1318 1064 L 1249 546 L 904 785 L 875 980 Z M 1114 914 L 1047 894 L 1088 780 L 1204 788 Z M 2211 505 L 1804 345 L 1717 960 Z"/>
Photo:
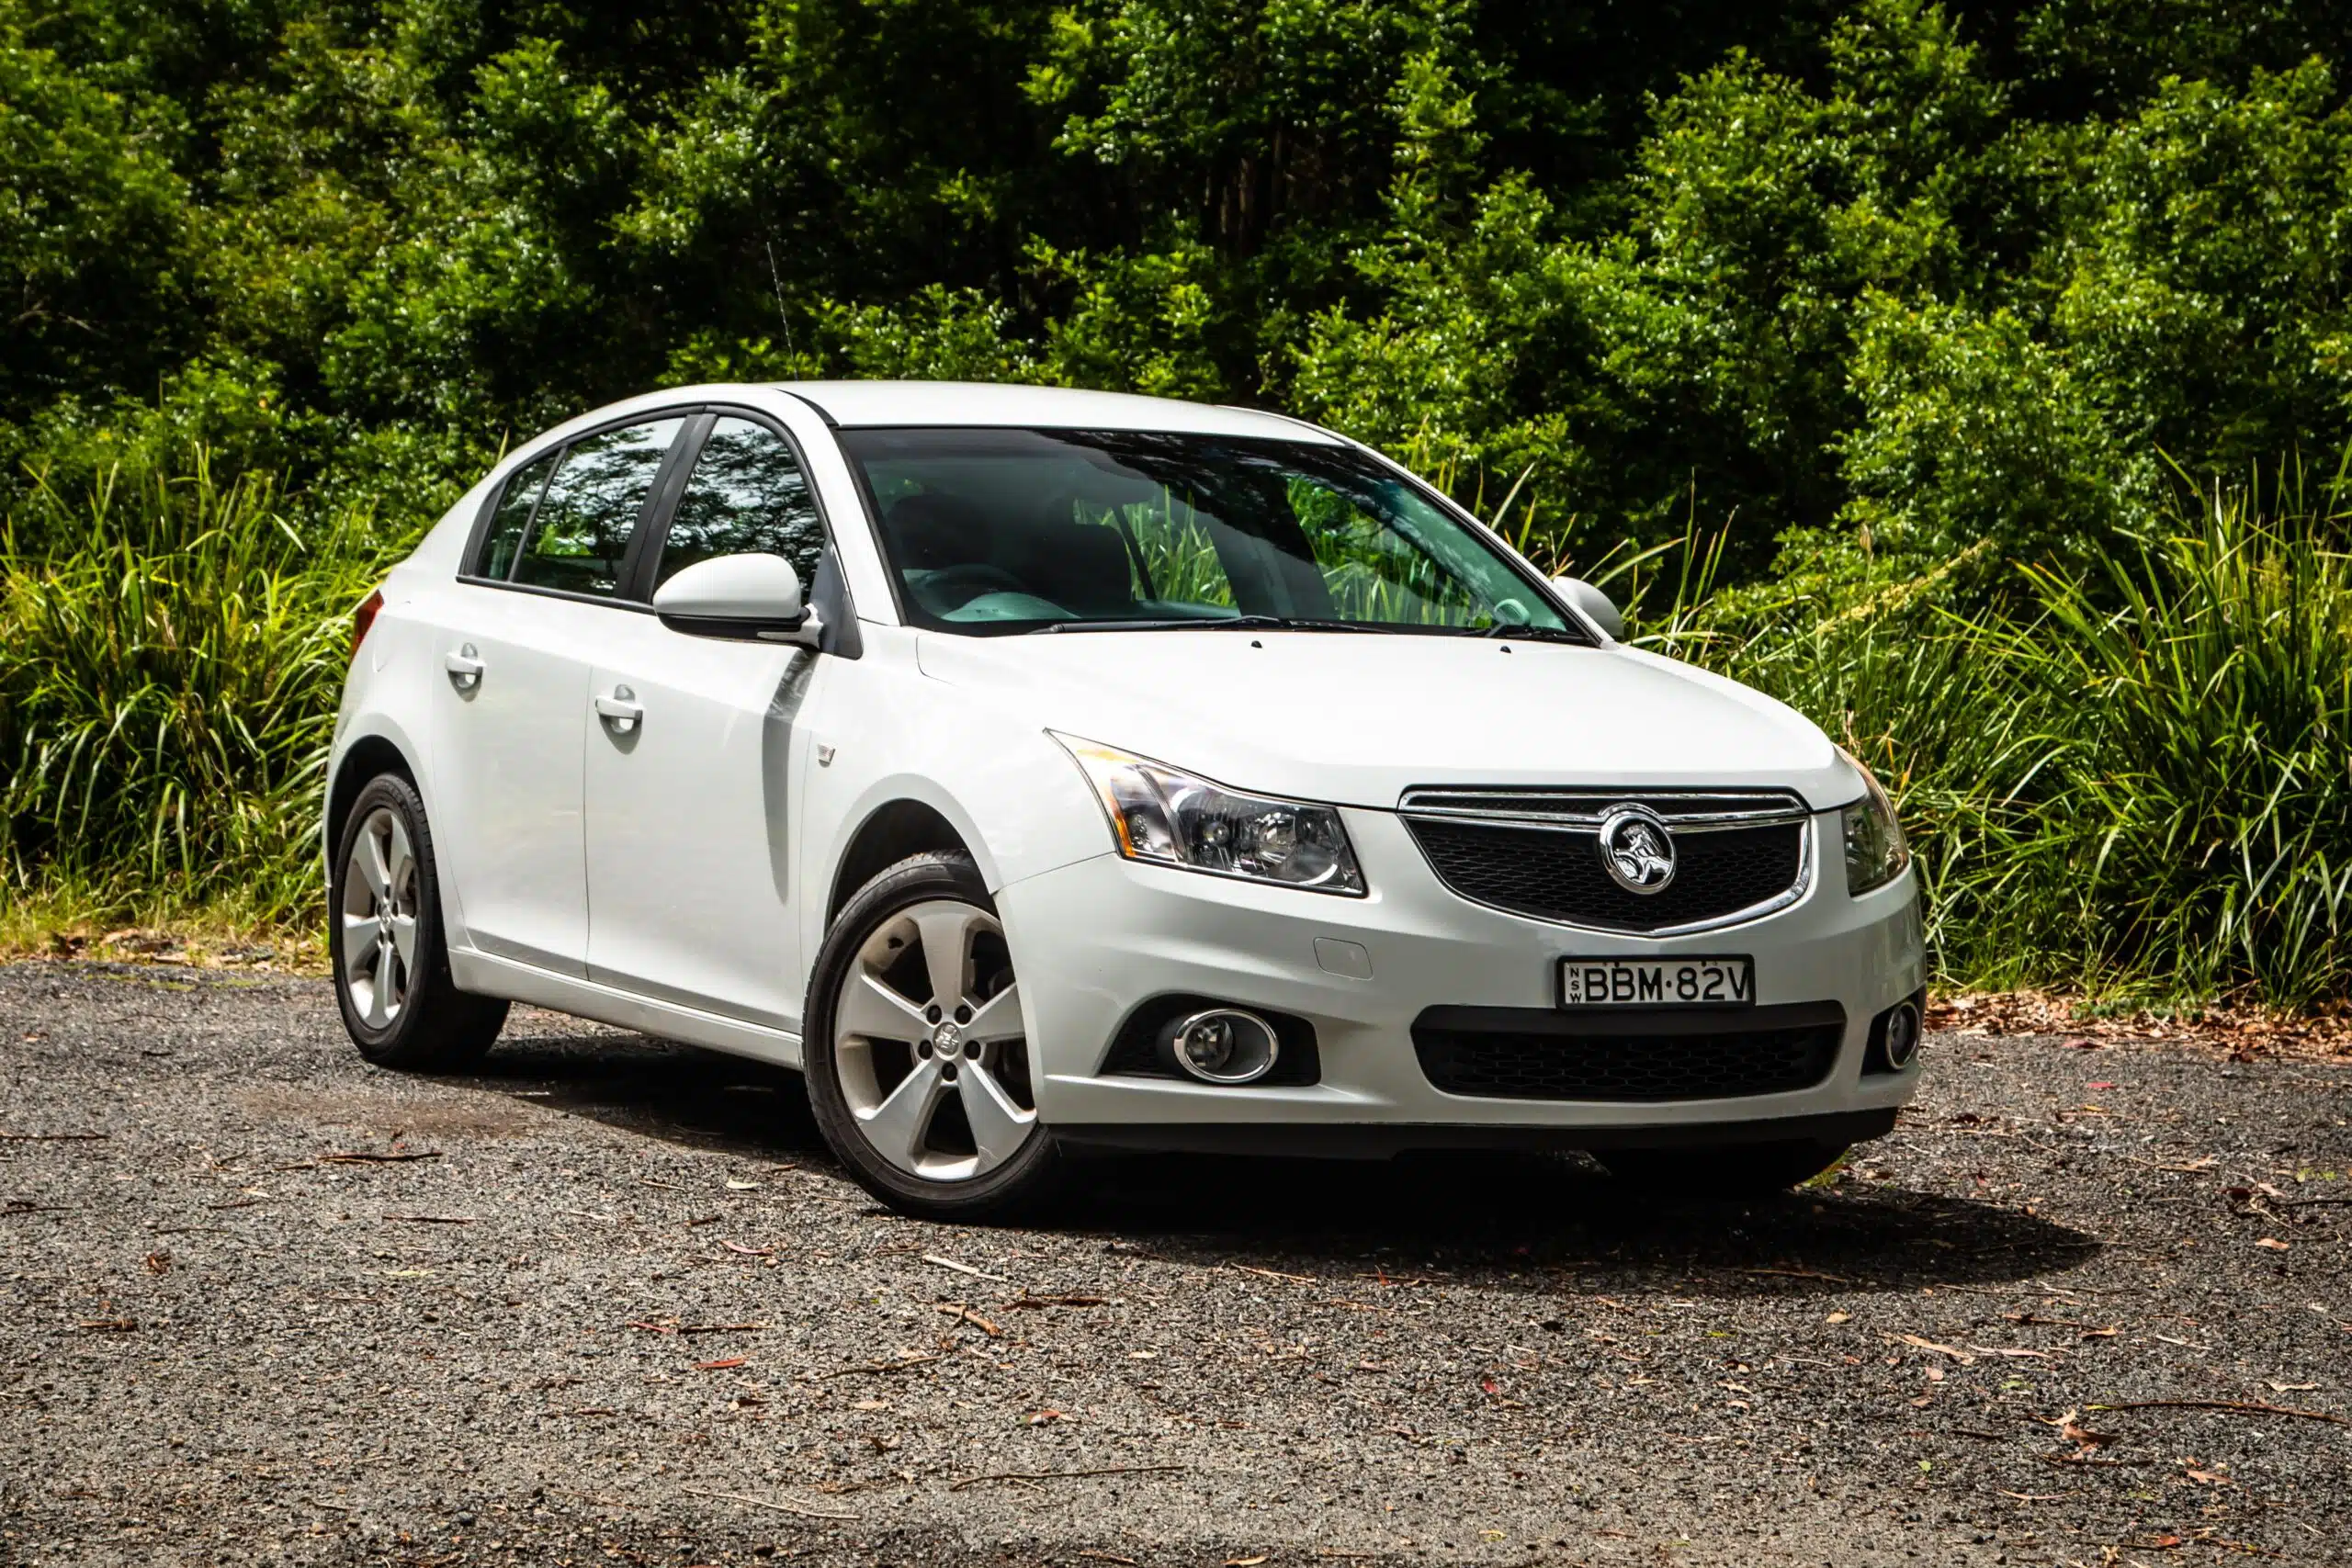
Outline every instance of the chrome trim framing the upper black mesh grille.
<path id="1" fill-rule="evenodd" d="M 1479 809 L 1479 806 L 1432 806 L 1430 799 L 1477 799 L 1522 806 L 1510 809 Z M 1677 816 L 1670 806 L 1682 797 L 1693 804 L 1698 802 L 1724 802 L 1724 799 L 1752 799 L 1755 806 L 1736 811 L 1693 811 L 1689 816 Z M 1571 811 L 1524 811 L 1529 802 L 1562 802 L 1564 806 L 1576 806 Z M 1475 903 L 1482 910 L 1494 910 L 1498 914 L 1512 914 L 1517 919 L 1536 922 L 1538 926 L 1557 926 L 1562 931 L 1590 931 L 1592 936 L 1632 936 L 1632 938 L 1670 938 L 1670 936 L 1698 936 L 1700 931 L 1722 931 L 1726 926 L 1745 926 L 1748 922 L 1764 919 L 1766 914 L 1778 914 L 1806 898 L 1813 891 L 1813 877 L 1818 875 L 1818 837 L 1825 827 L 1816 825 L 1816 818 L 1837 818 L 1837 811 L 1813 811 L 1797 795 L 1785 790 L 1449 790 L 1449 788 L 1414 788 L 1406 790 L 1397 802 L 1397 816 L 1404 820 L 1430 820 L 1430 823 L 1470 823 L 1489 827 L 1536 827 L 1543 832 L 1588 832 L 1599 835 L 1602 816 L 1609 806 L 1639 802 L 1665 818 L 1668 827 L 1677 835 L 1682 832 L 1722 832 L 1729 827 L 1773 827 L 1783 823 L 1802 825 L 1797 835 L 1797 877 L 1780 893 L 1762 903 L 1752 903 L 1743 910 L 1731 910 L 1729 914 L 1717 914 L 1715 919 L 1693 919 L 1682 926 L 1656 926 L 1642 931 L 1635 926 L 1595 926 L 1576 919 L 1552 919 L 1548 914 L 1529 914 L 1526 910 L 1512 910 L 1508 905 L 1491 903 L 1486 898 L 1472 898 L 1458 886 L 1446 882 L 1437 863 L 1430 860 L 1430 851 L 1421 849 L 1418 839 L 1414 849 L 1421 849 L 1421 863 L 1430 867 L 1430 877 L 1437 886 L 1454 893 L 1463 903 Z"/>

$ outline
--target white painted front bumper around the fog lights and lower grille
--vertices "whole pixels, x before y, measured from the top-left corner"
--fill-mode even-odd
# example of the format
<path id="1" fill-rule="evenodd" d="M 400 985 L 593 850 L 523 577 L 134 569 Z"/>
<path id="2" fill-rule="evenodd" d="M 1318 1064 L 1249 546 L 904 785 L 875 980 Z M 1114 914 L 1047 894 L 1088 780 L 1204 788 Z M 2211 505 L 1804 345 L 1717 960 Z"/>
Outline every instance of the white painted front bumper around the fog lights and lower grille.
<path id="1" fill-rule="evenodd" d="M 1602 1147 L 1884 1133 L 1919 1081 L 1863 1072 L 1870 1020 L 1924 983 L 1912 872 L 1851 898 L 1837 816 L 1816 813 L 1816 865 L 1788 910 L 1696 936 L 1555 926 L 1475 905 L 1430 872 L 1404 823 L 1345 811 L 1367 898 L 1303 893 L 1103 853 L 997 891 L 1021 971 L 1037 1110 L 1056 1135 L 1141 1147 L 1392 1152 Z M 1830 853 L 1823 853 L 1830 851 Z M 1357 952 L 1362 959 L 1357 959 Z M 1444 1093 L 1411 1025 L 1432 1006 L 1550 1009 L 1562 957 L 1752 954 L 1757 1004 L 1835 1001 L 1844 1039 L 1828 1077 L 1792 1093 L 1715 1100 L 1519 1100 Z M 1364 961 L 1369 959 L 1369 964 Z M 1367 978 L 1341 971 L 1369 969 Z M 1319 1081 L 1218 1088 L 1103 1074 L 1131 1011 L 1167 994 L 1270 1009 L 1315 1025 Z"/>

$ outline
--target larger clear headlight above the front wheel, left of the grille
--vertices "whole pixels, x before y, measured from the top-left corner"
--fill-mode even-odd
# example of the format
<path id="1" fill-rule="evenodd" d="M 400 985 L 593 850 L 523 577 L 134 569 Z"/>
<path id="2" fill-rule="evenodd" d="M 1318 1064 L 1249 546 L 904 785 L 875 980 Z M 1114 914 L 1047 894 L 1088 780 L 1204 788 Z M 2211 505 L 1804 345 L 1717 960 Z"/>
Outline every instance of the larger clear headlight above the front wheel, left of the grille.
<path id="1" fill-rule="evenodd" d="M 1317 893 L 1364 893 L 1364 872 L 1357 870 L 1348 830 L 1331 806 L 1237 795 L 1094 741 L 1054 738 L 1087 769 L 1087 780 L 1110 816 L 1110 837 L 1129 860 Z"/>

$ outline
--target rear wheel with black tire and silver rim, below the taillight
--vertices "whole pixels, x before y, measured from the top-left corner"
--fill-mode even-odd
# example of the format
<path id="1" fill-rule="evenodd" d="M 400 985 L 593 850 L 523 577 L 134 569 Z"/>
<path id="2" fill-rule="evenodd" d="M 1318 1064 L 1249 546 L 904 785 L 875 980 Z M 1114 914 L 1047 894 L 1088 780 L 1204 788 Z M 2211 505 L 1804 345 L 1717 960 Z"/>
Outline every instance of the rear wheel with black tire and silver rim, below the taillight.
<path id="1" fill-rule="evenodd" d="M 400 773 L 367 780 L 343 820 L 327 954 L 343 1030 L 379 1067 L 459 1072 L 480 1063 L 506 1027 L 506 1001 L 449 980 L 433 827 L 416 785 Z"/>

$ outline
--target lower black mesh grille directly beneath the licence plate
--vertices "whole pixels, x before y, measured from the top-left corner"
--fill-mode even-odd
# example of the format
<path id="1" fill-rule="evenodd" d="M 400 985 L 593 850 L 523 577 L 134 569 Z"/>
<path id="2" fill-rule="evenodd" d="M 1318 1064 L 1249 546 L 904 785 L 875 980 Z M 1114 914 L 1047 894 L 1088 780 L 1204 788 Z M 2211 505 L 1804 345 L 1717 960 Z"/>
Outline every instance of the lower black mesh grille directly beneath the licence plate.
<path id="1" fill-rule="evenodd" d="M 1432 1006 L 1414 1020 L 1414 1053 L 1435 1088 L 1482 1100 L 1738 1100 L 1813 1088 L 1844 1032 L 1835 1001 L 1736 1020 Z"/>

